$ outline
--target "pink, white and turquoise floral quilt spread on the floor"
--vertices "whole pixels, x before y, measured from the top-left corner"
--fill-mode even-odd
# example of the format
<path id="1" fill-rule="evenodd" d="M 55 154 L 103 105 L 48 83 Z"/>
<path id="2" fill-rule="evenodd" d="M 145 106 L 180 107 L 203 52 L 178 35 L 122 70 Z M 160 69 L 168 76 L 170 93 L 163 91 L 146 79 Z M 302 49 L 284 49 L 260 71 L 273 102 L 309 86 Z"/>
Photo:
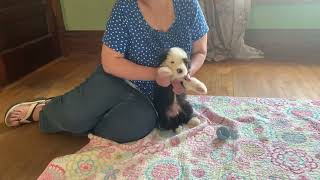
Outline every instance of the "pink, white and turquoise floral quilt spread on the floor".
<path id="1" fill-rule="evenodd" d="M 89 135 L 39 179 L 318 179 L 320 100 L 189 96 L 202 123 L 129 143 Z M 236 140 L 216 141 L 230 125 Z"/>

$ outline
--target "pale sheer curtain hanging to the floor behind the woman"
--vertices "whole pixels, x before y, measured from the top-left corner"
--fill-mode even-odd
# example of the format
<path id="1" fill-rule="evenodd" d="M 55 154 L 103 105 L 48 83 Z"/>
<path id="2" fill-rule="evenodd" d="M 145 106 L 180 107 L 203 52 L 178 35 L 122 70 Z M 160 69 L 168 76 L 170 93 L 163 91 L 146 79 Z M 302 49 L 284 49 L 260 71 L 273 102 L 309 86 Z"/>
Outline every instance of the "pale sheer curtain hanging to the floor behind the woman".
<path id="1" fill-rule="evenodd" d="M 208 22 L 208 61 L 227 58 L 263 58 L 263 52 L 245 44 L 251 0 L 199 0 Z"/>

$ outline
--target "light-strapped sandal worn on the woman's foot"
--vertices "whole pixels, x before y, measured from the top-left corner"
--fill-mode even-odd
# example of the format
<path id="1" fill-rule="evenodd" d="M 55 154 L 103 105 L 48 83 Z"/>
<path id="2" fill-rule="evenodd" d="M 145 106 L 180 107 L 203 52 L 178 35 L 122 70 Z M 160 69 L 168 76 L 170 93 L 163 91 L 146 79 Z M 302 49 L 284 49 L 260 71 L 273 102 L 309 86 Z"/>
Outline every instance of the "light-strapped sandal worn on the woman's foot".
<path id="1" fill-rule="evenodd" d="M 12 124 L 10 124 L 9 122 L 9 115 L 15 110 L 15 108 L 19 107 L 19 106 L 25 106 L 25 105 L 30 105 L 30 107 L 28 108 L 28 112 L 26 113 L 26 115 L 24 116 L 24 118 L 22 119 L 19 119 L 18 122 L 19 122 L 19 125 L 23 125 L 23 124 L 30 124 L 32 122 L 35 122 L 32 118 L 32 114 L 34 112 L 34 109 L 36 108 L 36 106 L 38 104 L 45 104 L 48 100 L 48 98 L 38 98 L 38 99 L 35 99 L 33 101 L 27 101 L 27 102 L 22 102 L 22 103 L 18 103 L 18 104 L 15 104 L 13 106 L 11 106 L 7 112 L 6 112 L 6 115 L 5 115 L 5 118 L 4 118 L 4 123 L 7 127 L 15 127 L 13 126 Z M 19 126 L 18 125 L 18 126 Z"/>

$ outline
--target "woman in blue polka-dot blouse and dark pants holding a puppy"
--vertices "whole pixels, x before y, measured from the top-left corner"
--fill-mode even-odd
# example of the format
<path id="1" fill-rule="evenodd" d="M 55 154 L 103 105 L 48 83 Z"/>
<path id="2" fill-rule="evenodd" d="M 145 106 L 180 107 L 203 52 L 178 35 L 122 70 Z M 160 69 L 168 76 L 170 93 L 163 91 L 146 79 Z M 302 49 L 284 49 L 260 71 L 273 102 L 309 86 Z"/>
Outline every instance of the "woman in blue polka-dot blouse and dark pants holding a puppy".
<path id="1" fill-rule="evenodd" d="M 192 76 L 205 60 L 207 32 L 197 0 L 118 0 L 96 71 L 62 96 L 13 106 L 5 123 L 39 122 L 45 133 L 91 132 L 119 143 L 143 138 L 156 126 L 154 83 L 171 84 L 157 74 L 161 52 L 183 48 L 191 56 Z M 179 82 L 172 84 L 175 93 L 184 92 Z"/>

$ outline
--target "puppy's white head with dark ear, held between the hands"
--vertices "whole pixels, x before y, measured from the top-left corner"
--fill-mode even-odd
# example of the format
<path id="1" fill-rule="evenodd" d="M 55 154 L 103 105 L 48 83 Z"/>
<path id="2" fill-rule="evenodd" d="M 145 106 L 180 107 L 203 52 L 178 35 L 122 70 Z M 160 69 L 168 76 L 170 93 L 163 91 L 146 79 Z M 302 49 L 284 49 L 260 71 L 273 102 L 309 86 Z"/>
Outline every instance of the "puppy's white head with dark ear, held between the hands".
<path id="1" fill-rule="evenodd" d="M 183 49 L 173 47 L 164 54 L 161 66 L 168 67 L 174 79 L 182 79 L 188 74 L 190 59 Z"/>

